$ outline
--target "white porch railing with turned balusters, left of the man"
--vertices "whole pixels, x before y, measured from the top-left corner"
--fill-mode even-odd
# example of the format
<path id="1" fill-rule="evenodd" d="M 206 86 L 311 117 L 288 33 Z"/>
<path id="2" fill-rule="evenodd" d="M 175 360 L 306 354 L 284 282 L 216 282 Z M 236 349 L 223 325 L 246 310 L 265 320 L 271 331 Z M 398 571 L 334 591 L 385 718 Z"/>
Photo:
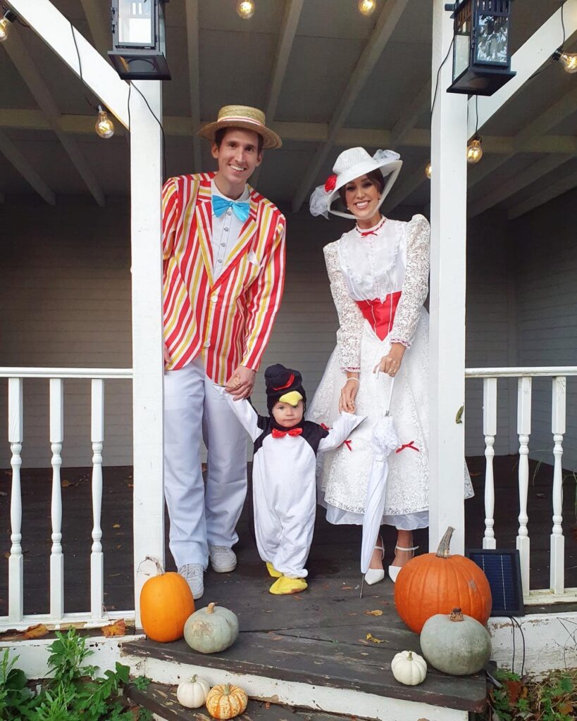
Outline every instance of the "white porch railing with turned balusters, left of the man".
<path id="1" fill-rule="evenodd" d="M 132 379 L 131 368 L 0 368 L 8 379 L 8 441 L 12 453 L 10 523 L 12 547 L 8 561 L 8 615 L 0 616 L 0 630 L 43 623 L 51 627 L 83 624 L 100 627 L 111 619 L 133 619 L 134 611 L 105 611 L 104 554 L 102 552 L 102 446 L 104 444 L 104 383 Z M 22 556 L 22 492 L 20 467 L 24 443 L 22 390 L 25 379 L 45 378 L 50 385 L 50 449 L 52 451 L 52 547 L 50 551 L 50 609 L 46 614 L 24 614 L 24 563 Z M 90 609 L 66 614 L 64 609 L 64 556 L 62 552 L 62 496 L 60 469 L 64 439 L 64 380 L 89 379 L 92 384 L 92 553 L 90 556 Z"/>

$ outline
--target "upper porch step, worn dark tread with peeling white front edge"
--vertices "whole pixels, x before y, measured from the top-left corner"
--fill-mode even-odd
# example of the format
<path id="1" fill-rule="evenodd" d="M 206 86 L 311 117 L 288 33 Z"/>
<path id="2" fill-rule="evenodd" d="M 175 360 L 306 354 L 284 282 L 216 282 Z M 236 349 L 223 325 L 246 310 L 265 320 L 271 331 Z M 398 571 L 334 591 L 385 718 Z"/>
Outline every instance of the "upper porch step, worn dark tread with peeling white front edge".
<path id="1" fill-rule="evenodd" d="M 406 629 L 375 626 L 369 641 L 361 628 L 351 625 L 242 632 L 232 647 L 211 655 L 195 653 L 184 640 L 169 644 L 150 640 L 126 642 L 122 653 L 132 657 L 131 663 L 140 662 L 154 681 L 175 684 L 190 673 L 204 671 L 211 683 L 244 682 L 251 697 L 336 713 L 348 710 L 337 702 L 341 691 L 349 699 L 352 692 L 354 696 L 369 694 L 377 701 L 394 699 L 397 707 L 398 702 L 416 702 L 461 712 L 454 718 L 485 709 L 484 672 L 456 677 L 430 668 L 419 686 L 404 686 L 395 681 L 390 668 L 392 657 L 402 649 L 419 653 L 418 636 Z M 283 693 L 297 686 L 304 694 L 307 688 L 314 689 L 314 704 L 301 702 L 298 694 Z M 329 704 L 326 700 L 321 702 L 321 697 L 329 699 Z"/>

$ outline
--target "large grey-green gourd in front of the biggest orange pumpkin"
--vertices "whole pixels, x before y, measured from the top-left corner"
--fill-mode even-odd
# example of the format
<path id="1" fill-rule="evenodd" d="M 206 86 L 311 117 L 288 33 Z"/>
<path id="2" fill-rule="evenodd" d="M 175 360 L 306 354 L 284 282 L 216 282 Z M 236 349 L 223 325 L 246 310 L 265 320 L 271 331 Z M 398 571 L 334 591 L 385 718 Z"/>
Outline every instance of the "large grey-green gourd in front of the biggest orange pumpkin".
<path id="1" fill-rule="evenodd" d="M 454 609 L 452 614 L 436 614 L 420 632 L 423 656 L 439 671 L 452 676 L 477 673 L 491 655 L 488 630 L 471 616 Z"/>

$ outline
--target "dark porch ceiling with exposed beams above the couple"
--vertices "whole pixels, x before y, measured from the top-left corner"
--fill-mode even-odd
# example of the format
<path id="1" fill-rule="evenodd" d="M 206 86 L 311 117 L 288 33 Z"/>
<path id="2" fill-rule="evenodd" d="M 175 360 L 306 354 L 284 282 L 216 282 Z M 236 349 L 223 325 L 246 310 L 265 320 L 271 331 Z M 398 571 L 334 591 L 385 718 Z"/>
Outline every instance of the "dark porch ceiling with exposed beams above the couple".
<path id="1" fill-rule="evenodd" d="M 105 54 L 110 1 L 52 1 Z M 195 122 L 238 102 L 273 110 L 268 121 L 286 138 L 258 177 L 259 190 L 277 203 L 297 210 L 343 146 L 364 144 L 394 147 L 405 161 L 387 212 L 426 206 L 432 3 L 378 0 L 376 13 L 363 17 L 356 0 L 255 2 L 255 15 L 243 21 L 236 0 L 169 1 L 168 174 L 213 167 L 208 145 L 194 142 Z M 516 0 L 513 50 L 559 6 Z M 190 22 L 197 7 L 198 32 Z M 40 189 L 48 202 L 51 193 L 92 193 L 97 202 L 100 193 L 127 194 L 125 134 L 97 138 L 86 99 L 94 97 L 32 30 L 11 30 L 0 50 L 0 200 Z M 535 120 L 545 131 L 527 131 Z M 552 63 L 482 129 L 485 157 L 469 169 L 471 214 L 496 206 L 518 216 L 577 185 L 576 131 L 576 76 Z"/>

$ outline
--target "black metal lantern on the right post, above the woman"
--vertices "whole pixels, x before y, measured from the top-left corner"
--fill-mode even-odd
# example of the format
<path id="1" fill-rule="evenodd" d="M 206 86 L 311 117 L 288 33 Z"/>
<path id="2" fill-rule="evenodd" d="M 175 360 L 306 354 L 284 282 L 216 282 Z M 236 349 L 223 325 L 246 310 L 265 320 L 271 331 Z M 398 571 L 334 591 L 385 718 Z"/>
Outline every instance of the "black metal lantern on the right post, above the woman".
<path id="1" fill-rule="evenodd" d="M 454 19 L 453 82 L 447 92 L 493 95 L 516 75 L 509 36 L 512 0 L 458 0 Z"/>

